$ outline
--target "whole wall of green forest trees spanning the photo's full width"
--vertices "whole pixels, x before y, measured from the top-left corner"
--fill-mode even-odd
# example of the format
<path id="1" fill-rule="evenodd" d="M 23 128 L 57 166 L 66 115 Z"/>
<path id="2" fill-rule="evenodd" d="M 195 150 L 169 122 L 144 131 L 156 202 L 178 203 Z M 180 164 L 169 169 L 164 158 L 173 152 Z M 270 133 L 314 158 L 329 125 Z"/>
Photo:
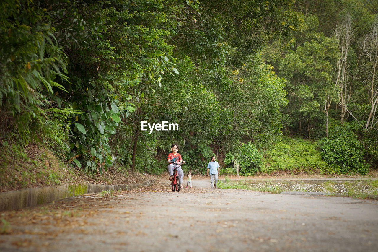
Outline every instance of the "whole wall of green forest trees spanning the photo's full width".
<path id="1" fill-rule="evenodd" d="M 159 174 L 176 142 L 185 169 L 198 174 L 213 153 L 236 160 L 242 174 L 330 173 L 318 156 L 276 155 L 260 168 L 260 150 L 269 153 L 282 127 L 320 139 L 336 119 L 356 121 L 356 141 L 378 160 L 373 2 L 4 0 L 0 7 L 3 148 L 41 143 L 85 171 L 101 173 L 116 160 Z M 334 31 L 347 27 L 345 17 L 353 32 L 343 53 Z M 141 121 L 179 129 L 150 134 Z"/>

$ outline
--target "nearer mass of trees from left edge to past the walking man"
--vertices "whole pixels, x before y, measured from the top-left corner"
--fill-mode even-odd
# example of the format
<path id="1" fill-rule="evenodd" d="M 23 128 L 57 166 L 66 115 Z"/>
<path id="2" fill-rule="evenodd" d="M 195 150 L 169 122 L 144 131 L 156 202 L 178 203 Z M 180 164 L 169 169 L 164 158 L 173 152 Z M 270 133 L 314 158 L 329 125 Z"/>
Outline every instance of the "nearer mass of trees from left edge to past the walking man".
<path id="1" fill-rule="evenodd" d="M 244 135 L 271 143 L 284 81 L 255 54 L 269 39 L 289 39 L 301 22 L 291 4 L 3 1 L 2 141 L 46 143 L 100 172 L 113 156 L 154 170 L 156 148 L 172 142 L 185 142 L 193 168 L 203 162 L 190 154 L 198 144 L 232 149 Z M 180 129 L 149 135 L 141 121 Z"/>

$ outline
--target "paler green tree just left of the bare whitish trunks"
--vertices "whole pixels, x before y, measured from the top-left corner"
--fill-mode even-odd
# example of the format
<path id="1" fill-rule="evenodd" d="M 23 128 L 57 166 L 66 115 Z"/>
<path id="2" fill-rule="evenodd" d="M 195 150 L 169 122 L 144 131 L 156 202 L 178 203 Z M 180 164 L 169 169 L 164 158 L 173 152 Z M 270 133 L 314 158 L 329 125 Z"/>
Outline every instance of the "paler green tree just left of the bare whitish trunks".
<path id="1" fill-rule="evenodd" d="M 297 124 L 301 131 L 305 122 L 308 139 L 314 123 L 324 120 L 321 104 L 333 92 L 333 66 L 338 56 L 336 40 L 318 33 L 318 24 L 316 16 L 306 16 L 305 25 L 296 35 L 301 44 L 285 54 L 281 54 L 282 49 L 272 48 L 278 44 L 263 50 L 265 60 L 276 64 L 277 75 L 288 80 L 289 105 L 284 110 L 290 117 L 288 124 Z"/>

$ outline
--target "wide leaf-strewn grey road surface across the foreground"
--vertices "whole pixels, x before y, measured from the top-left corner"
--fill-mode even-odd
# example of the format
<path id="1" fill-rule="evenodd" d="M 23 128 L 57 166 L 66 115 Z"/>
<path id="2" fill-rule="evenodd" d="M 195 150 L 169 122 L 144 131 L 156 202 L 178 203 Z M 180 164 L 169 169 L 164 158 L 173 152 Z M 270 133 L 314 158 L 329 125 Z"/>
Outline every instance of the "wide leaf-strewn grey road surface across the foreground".
<path id="1" fill-rule="evenodd" d="M 168 181 L 3 212 L 0 251 L 376 251 L 378 201 Z"/>

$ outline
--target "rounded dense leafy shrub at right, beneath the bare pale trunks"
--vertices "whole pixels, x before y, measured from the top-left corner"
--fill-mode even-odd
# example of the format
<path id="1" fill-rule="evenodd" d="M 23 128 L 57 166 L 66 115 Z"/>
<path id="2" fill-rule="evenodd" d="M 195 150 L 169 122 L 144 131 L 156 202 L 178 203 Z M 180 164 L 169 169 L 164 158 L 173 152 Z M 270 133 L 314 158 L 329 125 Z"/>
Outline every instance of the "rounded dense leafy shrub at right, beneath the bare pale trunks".
<path id="1" fill-rule="evenodd" d="M 366 174 L 369 169 L 364 163 L 363 144 L 357 135 L 344 126 L 330 129 L 328 138 L 319 140 L 322 157 L 336 172 Z"/>

